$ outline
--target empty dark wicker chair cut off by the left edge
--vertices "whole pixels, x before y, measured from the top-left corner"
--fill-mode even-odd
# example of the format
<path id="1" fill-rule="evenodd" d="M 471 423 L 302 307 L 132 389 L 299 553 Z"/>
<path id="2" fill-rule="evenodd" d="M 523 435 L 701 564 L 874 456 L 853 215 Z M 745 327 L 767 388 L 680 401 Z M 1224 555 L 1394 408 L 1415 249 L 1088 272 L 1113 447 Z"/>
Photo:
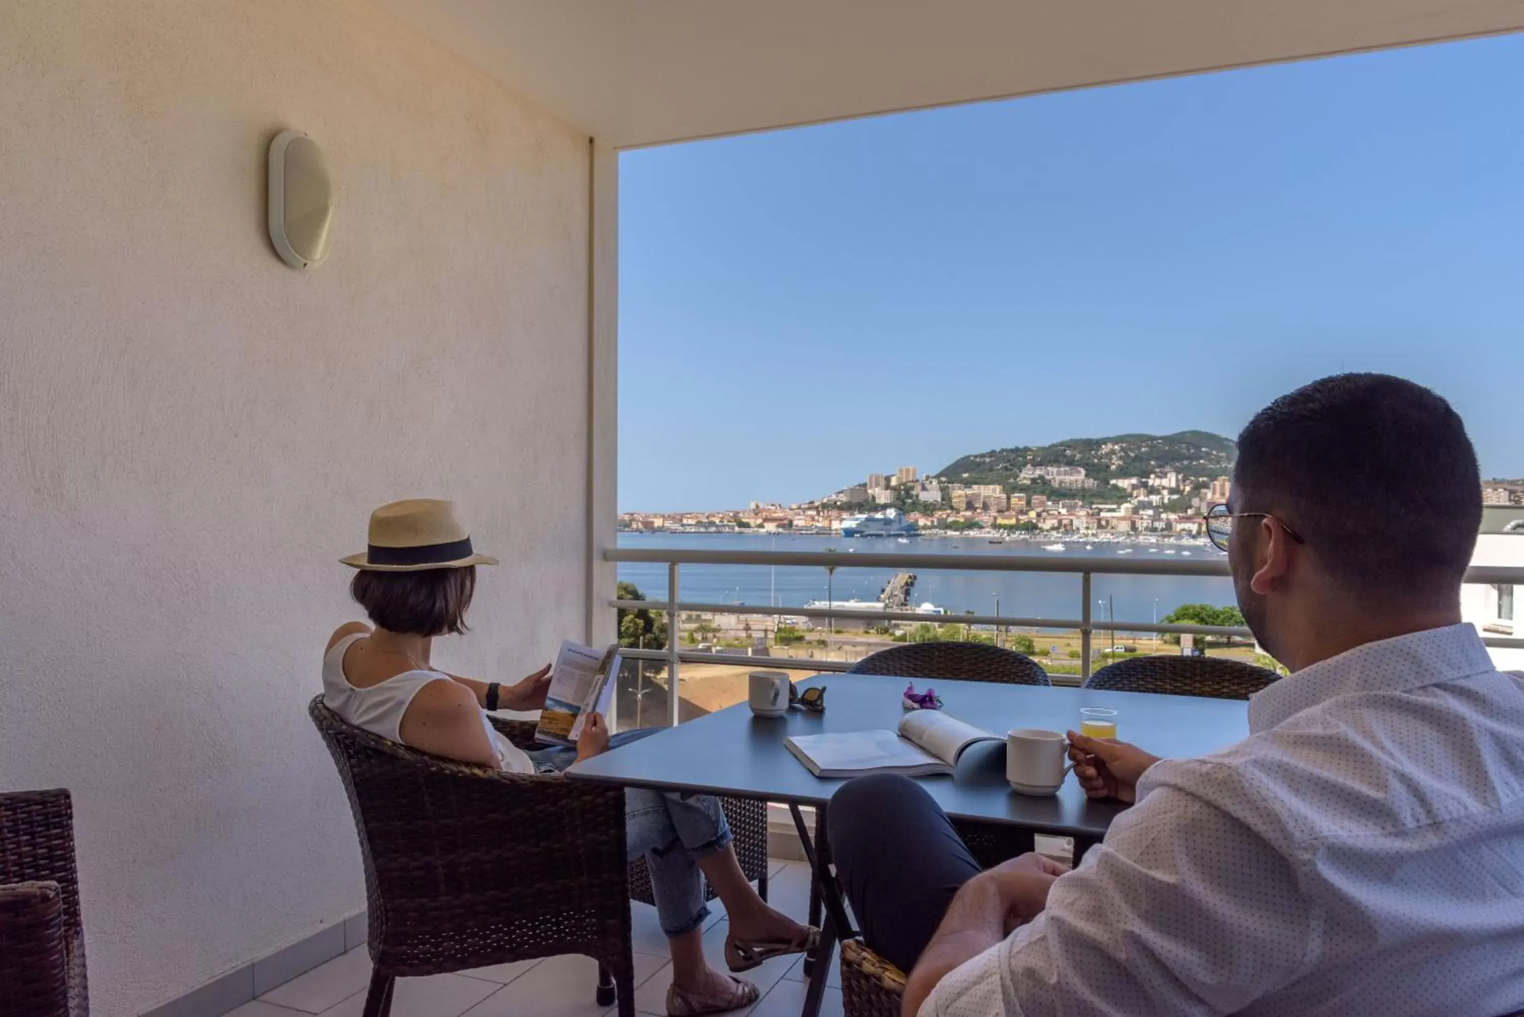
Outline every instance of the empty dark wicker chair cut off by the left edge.
<path id="1" fill-rule="evenodd" d="M 0 1014 L 88 1017 L 69 791 L 0 794 Z"/>

